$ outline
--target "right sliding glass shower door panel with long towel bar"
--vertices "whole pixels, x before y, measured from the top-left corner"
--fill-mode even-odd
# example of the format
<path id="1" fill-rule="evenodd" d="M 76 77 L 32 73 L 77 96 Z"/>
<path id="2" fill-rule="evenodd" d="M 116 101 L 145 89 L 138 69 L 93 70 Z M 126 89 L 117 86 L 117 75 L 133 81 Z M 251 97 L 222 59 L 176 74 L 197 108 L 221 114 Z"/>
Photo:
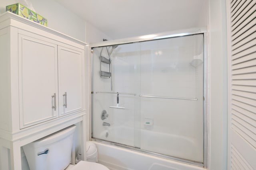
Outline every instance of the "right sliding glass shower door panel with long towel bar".
<path id="1" fill-rule="evenodd" d="M 203 35 L 141 43 L 140 148 L 203 162 Z"/>

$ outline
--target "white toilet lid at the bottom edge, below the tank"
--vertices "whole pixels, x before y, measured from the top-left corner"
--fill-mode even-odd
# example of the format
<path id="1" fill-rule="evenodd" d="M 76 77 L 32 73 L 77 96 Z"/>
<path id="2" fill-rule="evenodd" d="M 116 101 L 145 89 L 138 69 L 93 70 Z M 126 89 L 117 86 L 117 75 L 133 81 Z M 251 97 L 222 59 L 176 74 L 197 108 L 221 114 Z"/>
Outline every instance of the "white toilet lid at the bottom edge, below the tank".
<path id="1" fill-rule="evenodd" d="M 95 162 L 80 161 L 70 170 L 109 170 L 106 166 Z"/>

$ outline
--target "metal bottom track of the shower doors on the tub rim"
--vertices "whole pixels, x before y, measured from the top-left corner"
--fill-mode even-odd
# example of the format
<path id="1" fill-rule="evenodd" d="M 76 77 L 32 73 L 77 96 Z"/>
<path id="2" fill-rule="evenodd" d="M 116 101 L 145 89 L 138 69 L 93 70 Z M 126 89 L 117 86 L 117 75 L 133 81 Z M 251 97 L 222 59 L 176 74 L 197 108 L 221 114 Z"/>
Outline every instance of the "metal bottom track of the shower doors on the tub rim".
<path id="1" fill-rule="evenodd" d="M 97 139 L 97 138 L 92 138 L 91 140 L 95 141 L 95 142 L 104 143 L 106 145 L 111 145 L 111 146 L 120 147 L 120 148 L 123 148 L 123 149 L 125 148 L 125 149 L 128 149 L 128 150 L 132 150 L 132 151 L 143 153 L 143 154 L 148 154 L 148 155 L 151 155 L 151 156 L 157 156 L 159 158 L 165 158 L 165 159 L 175 160 L 177 162 L 186 163 L 186 164 L 190 164 L 190 165 L 194 165 L 194 166 L 204 167 L 203 162 L 197 162 L 197 161 L 194 161 L 194 160 L 188 160 L 188 159 L 178 158 L 178 157 L 175 157 L 175 156 L 169 156 L 169 155 L 160 154 L 160 153 L 156 153 L 156 152 L 150 152 L 148 150 L 143 150 L 143 149 L 140 149 L 140 148 L 137 148 L 137 147 L 131 147 L 129 145 L 124 145 L 124 144 L 120 144 L 120 143 L 105 141 L 105 140 Z"/>

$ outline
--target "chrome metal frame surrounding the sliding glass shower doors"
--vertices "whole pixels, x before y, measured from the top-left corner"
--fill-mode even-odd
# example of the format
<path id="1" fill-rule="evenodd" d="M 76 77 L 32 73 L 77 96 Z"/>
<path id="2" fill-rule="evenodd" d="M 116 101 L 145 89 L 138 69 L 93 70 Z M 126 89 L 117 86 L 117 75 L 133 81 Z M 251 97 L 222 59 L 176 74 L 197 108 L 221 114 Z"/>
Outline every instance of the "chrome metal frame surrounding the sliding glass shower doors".
<path id="1" fill-rule="evenodd" d="M 93 48 L 95 47 L 106 47 L 106 46 L 110 46 L 110 45 L 122 45 L 122 44 L 128 44 L 128 43 L 137 43 L 137 42 L 143 42 L 143 41 L 151 41 L 151 40 L 159 40 L 159 39 L 166 39 L 166 38 L 172 38 L 172 37 L 183 37 L 186 35 L 196 35 L 196 34 L 202 34 L 203 35 L 203 39 L 204 39 L 204 47 L 203 47 L 203 53 L 204 53 L 204 68 L 203 68 L 203 97 L 204 97 L 204 103 L 203 103 L 203 128 L 204 128 L 204 145 L 203 145 L 203 162 L 202 164 L 200 162 L 193 162 L 190 160 L 185 160 L 182 158 L 176 158 L 176 157 L 172 157 L 172 156 L 166 156 L 166 155 L 162 155 L 162 154 L 158 154 L 158 153 L 154 153 L 154 152 L 150 152 L 150 151 L 146 151 L 146 150 L 141 150 L 141 149 L 137 149 L 136 147 L 128 147 L 126 145 L 122 145 L 119 143 L 113 143 L 113 142 L 109 142 L 109 141 L 104 141 L 101 139 L 94 139 L 92 138 L 92 133 L 93 133 L 93 95 L 91 95 L 91 109 L 90 109 L 90 140 L 93 141 L 98 141 L 101 143 L 105 143 L 108 145 L 114 145 L 117 147 L 122 147 L 125 149 L 129 149 L 129 150 L 134 150 L 137 152 L 142 152 L 142 153 L 146 153 L 146 154 L 150 154 L 153 156 L 158 156 L 158 157 L 162 157 L 162 158 L 169 158 L 172 160 L 176 160 L 179 162 L 183 162 L 186 164 L 192 164 L 192 165 L 196 165 L 196 166 L 200 166 L 200 167 L 204 167 L 207 168 L 207 159 L 208 159 L 208 103 L 209 103 L 209 99 L 208 99 L 208 66 L 209 66 L 209 60 L 208 60 L 208 55 L 207 55 L 207 32 L 206 32 L 206 27 L 200 27 L 200 28 L 192 28 L 192 29 L 185 29 L 185 30 L 180 30 L 180 31 L 170 31 L 170 32 L 164 32 L 164 33 L 159 33 L 156 34 L 154 37 L 150 37 L 150 38 L 144 38 L 146 36 L 139 36 L 139 37 L 131 37 L 131 38 L 126 38 L 126 39 L 117 39 L 117 40 L 109 40 L 109 41 L 102 41 L 99 43 L 94 43 L 90 45 L 90 63 L 91 63 L 91 94 L 94 94 L 95 92 L 93 91 Z M 100 92 L 101 93 L 101 92 Z M 195 99 L 193 99 L 195 100 Z"/>

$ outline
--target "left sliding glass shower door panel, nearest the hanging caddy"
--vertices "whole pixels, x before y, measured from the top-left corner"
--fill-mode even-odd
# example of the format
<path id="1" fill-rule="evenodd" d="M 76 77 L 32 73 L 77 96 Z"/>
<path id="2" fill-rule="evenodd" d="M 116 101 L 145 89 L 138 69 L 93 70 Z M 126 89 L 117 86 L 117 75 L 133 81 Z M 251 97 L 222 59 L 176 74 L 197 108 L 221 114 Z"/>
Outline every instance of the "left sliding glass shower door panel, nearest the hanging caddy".
<path id="1" fill-rule="evenodd" d="M 112 46 L 93 49 L 93 138 L 134 146 L 134 114 L 135 107 L 138 107 L 136 105 L 138 95 L 134 94 L 139 87 L 136 82 L 140 82 L 137 68 L 140 61 L 139 50 L 139 43 L 118 45 L 113 50 Z M 109 59 L 108 53 L 110 69 L 109 64 L 100 63 L 100 55 Z M 100 64 L 102 64 L 101 68 Z M 109 70 L 111 77 L 100 77 L 100 69 Z M 117 104 L 117 92 L 119 104 Z M 102 120 L 104 112 L 108 117 Z"/>

